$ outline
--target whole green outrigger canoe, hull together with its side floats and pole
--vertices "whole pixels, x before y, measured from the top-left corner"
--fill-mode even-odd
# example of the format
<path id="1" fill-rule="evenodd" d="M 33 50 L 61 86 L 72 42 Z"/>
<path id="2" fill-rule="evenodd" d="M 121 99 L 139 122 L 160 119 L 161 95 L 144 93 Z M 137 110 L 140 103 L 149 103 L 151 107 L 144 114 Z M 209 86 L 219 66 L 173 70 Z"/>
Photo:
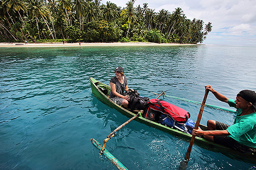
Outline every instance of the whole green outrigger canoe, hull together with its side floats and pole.
<path id="1" fill-rule="evenodd" d="M 100 150 L 100 154 L 105 155 L 113 164 L 115 164 L 115 166 L 119 170 L 126 170 L 127 168 L 121 162 L 119 162 L 111 153 L 109 153 L 108 150 L 105 149 L 105 145 L 106 145 L 106 142 L 109 139 L 111 139 L 113 136 L 115 136 L 117 130 L 121 129 L 124 125 L 126 125 L 129 122 L 131 122 L 131 120 L 133 120 L 133 119 L 136 120 L 137 122 L 143 123 L 143 124 L 148 125 L 150 127 L 157 128 L 159 130 L 165 131 L 165 132 L 170 133 L 170 134 L 175 134 L 175 135 L 178 135 L 178 136 L 183 136 L 186 139 L 191 139 L 192 138 L 192 135 L 190 135 L 188 133 L 184 133 L 184 132 L 182 132 L 180 130 L 173 129 L 171 127 L 167 127 L 165 125 L 161 125 L 161 124 L 159 124 L 157 122 L 154 122 L 154 121 L 151 121 L 151 120 L 143 118 L 143 116 L 141 115 L 143 113 L 143 111 L 128 111 L 127 109 L 122 108 L 119 105 L 116 105 L 116 103 L 111 101 L 111 99 L 109 99 L 109 97 L 106 96 L 102 92 L 102 89 L 107 90 L 108 92 L 111 91 L 111 88 L 110 88 L 109 85 L 106 85 L 106 84 L 104 84 L 102 82 L 99 82 L 96 79 L 91 77 L 90 78 L 90 86 L 91 86 L 93 95 L 96 96 L 96 98 L 99 99 L 102 103 L 104 103 L 105 105 L 110 106 L 111 108 L 116 109 L 117 111 L 119 111 L 123 115 L 131 118 L 127 122 L 122 124 L 121 126 L 117 127 L 116 130 L 111 132 L 107 136 L 107 138 L 104 140 L 103 146 L 98 141 L 96 141 L 95 139 L 90 139 L 91 142 Z M 161 94 L 159 94 L 159 96 L 160 95 L 167 96 L 163 92 Z M 186 100 L 186 99 L 182 99 L 182 98 L 177 98 L 177 97 L 174 97 L 174 96 L 168 96 L 168 97 L 172 97 L 173 99 L 181 99 L 183 101 L 192 102 L 192 103 L 195 103 L 195 104 L 200 104 L 199 102 L 195 102 L 195 101 L 192 101 L 192 100 Z M 229 110 L 227 108 L 221 108 L 221 107 L 214 106 L 214 105 L 207 105 L 206 104 L 205 106 L 206 107 L 220 109 L 220 110 L 223 110 L 223 111 L 234 112 L 234 111 Z M 205 125 L 201 125 L 200 124 L 199 127 L 202 130 L 207 130 L 207 126 L 205 126 Z M 208 140 L 200 138 L 198 136 L 195 137 L 195 143 L 198 144 L 198 145 L 199 144 L 203 144 L 204 148 L 206 148 L 208 150 L 213 150 L 215 152 L 221 152 L 221 153 L 223 153 L 223 154 L 225 154 L 227 156 L 231 156 L 233 158 L 242 159 L 242 160 L 245 160 L 245 161 L 250 160 L 250 161 L 256 162 L 256 156 L 253 153 L 241 153 L 241 152 L 239 152 L 237 150 L 233 150 L 233 149 L 231 149 L 229 147 L 225 147 L 223 145 L 216 144 L 214 142 L 208 141 Z M 207 146 L 207 147 L 205 147 L 205 146 Z"/>

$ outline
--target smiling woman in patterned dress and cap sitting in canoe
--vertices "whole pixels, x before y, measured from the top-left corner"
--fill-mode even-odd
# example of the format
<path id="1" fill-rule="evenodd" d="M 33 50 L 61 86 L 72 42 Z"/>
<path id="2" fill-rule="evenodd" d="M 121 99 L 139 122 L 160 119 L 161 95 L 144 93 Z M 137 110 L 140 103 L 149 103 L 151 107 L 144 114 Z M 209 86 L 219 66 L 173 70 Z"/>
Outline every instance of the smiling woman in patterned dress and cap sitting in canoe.
<path id="1" fill-rule="evenodd" d="M 128 101 L 130 96 L 124 96 L 124 91 L 128 91 L 128 82 L 124 74 L 124 69 L 122 67 L 117 67 L 114 69 L 115 77 L 110 80 L 111 91 L 109 94 L 109 99 L 115 102 L 117 105 L 122 105 L 124 108 L 128 108 Z"/>

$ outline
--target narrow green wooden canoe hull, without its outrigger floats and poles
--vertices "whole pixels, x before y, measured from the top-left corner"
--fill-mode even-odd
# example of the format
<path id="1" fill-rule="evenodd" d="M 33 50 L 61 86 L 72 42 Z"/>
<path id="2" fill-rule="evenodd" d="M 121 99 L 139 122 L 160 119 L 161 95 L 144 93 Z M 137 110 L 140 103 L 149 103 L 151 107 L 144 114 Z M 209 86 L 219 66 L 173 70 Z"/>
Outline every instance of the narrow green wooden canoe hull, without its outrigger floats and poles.
<path id="1" fill-rule="evenodd" d="M 108 91 L 110 91 L 111 88 L 110 88 L 109 85 L 106 85 L 102 82 L 99 82 L 96 79 L 91 77 L 90 78 L 90 86 L 91 86 L 93 95 L 96 96 L 96 98 L 99 99 L 101 102 L 103 102 L 105 105 L 109 105 L 111 108 L 116 109 L 117 111 L 119 111 L 120 113 L 122 113 L 123 115 L 125 115 L 129 118 L 131 118 L 131 117 L 133 117 L 137 114 L 137 113 L 133 113 L 131 111 L 128 111 L 127 109 L 122 108 L 119 105 L 116 105 L 116 103 L 111 101 L 108 98 L 108 96 L 103 94 L 103 92 L 98 88 L 98 87 L 101 87 L 101 88 L 103 87 L 103 88 L 107 89 Z M 145 119 L 142 116 L 137 117 L 135 120 L 140 122 L 140 123 L 143 123 L 145 125 L 148 125 L 148 126 L 157 128 L 159 130 L 165 131 L 167 133 L 175 134 L 175 135 L 178 135 L 178 136 L 183 136 L 188 140 L 191 139 L 191 137 L 192 137 L 192 135 L 190 135 L 188 133 L 184 133 L 184 132 L 181 132 L 179 130 L 172 129 L 170 127 L 161 125 L 157 122 Z M 204 126 L 204 125 L 200 124 L 199 127 L 202 130 L 207 130 L 207 127 Z M 253 153 L 241 153 L 237 150 L 233 150 L 229 147 L 225 147 L 223 145 L 216 144 L 214 142 L 208 141 L 208 140 L 200 138 L 200 137 L 195 137 L 195 144 L 198 144 L 198 145 L 201 144 L 201 146 L 203 144 L 203 147 L 205 149 L 212 150 L 212 151 L 215 151 L 215 152 L 221 152 L 221 153 L 223 153 L 226 156 L 229 156 L 231 158 L 237 158 L 237 159 L 241 159 L 243 161 L 248 161 L 248 160 L 251 160 L 253 162 L 256 161 L 256 156 Z"/>

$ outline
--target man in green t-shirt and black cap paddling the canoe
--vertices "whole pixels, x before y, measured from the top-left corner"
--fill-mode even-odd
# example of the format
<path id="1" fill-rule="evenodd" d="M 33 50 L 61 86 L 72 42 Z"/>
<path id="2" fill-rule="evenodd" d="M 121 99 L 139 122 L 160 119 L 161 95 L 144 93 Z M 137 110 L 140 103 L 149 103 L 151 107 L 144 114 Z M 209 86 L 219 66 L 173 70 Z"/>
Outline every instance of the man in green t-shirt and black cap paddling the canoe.
<path id="1" fill-rule="evenodd" d="M 215 143 L 239 150 L 240 152 L 256 153 L 256 93 L 243 90 L 236 96 L 236 100 L 215 91 L 212 86 L 205 88 L 220 101 L 226 102 L 230 107 L 236 108 L 236 118 L 233 125 L 229 126 L 215 120 L 208 120 L 208 130 L 200 128 L 193 130 L 192 134 L 204 136 L 205 139 Z"/>

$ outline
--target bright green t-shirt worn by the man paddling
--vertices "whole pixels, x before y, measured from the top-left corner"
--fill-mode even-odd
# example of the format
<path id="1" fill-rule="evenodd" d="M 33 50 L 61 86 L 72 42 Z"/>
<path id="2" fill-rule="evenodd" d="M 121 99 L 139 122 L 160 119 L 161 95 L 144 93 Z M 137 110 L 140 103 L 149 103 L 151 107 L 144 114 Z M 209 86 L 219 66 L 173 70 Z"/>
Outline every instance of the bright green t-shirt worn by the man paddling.
<path id="1" fill-rule="evenodd" d="M 236 108 L 235 100 L 229 99 L 228 104 L 230 107 Z M 227 128 L 227 131 L 230 133 L 230 137 L 240 144 L 256 147 L 256 112 L 239 116 L 241 112 L 241 108 L 236 110 L 235 122 Z"/>

